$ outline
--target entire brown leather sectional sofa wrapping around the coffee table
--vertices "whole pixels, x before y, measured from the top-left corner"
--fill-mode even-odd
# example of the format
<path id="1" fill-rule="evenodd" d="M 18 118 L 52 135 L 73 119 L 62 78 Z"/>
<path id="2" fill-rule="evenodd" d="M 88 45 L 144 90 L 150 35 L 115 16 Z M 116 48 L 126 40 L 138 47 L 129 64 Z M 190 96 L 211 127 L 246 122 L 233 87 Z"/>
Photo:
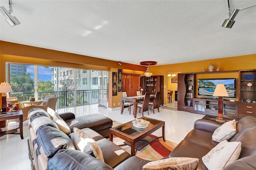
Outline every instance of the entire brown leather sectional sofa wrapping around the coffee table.
<path id="1" fill-rule="evenodd" d="M 87 134 L 96 140 L 102 150 L 104 163 L 71 146 L 70 141 L 74 143 L 74 132 L 68 136 L 55 128 L 54 125 L 52 125 L 53 123 L 49 122 L 34 131 L 34 128 L 30 125 L 30 119 L 33 121 L 36 116 L 44 116 L 45 113 L 42 112 L 44 112 L 42 109 L 38 109 L 38 112 L 32 117 L 29 115 L 30 140 L 33 143 L 36 169 L 142 170 L 142 166 L 151 162 L 150 160 L 143 160 L 136 156 L 130 157 L 128 152 L 106 139 L 109 135 L 108 130 L 112 126 L 112 120 L 107 117 L 92 114 L 75 118 L 72 113 L 60 114 L 71 129 L 73 127 L 84 128 L 82 130 L 86 131 Z M 198 170 L 207 170 L 202 162 L 202 157 L 218 144 L 218 142 L 212 141 L 212 134 L 214 130 L 221 125 L 222 124 L 213 121 L 197 120 L 194 123 L 194 129 L 188 133 L 176 148 L 174 148 L 169 157 L 199 158 Z M 255 170 L 256 118 L 244 117 L 237 122 L 236 128 L 236 134 L 228 141 L 242 142 L 242 151 L 239 159 L 226 166 L 224 170 Z M 52 140 L 52 135 L 56 135 L 58 138 L 62 138 L 62 140 L 67 140 L 68 144 L 65 144 L 65 146 L 62 145 L 57 149 L 56 147 L 53 149 L 50 148 L 51 146 L 48 144 L 48 141 Z M 48 151 L 50 151 L 50 154 Z M 216 164 L 217 163 L 218 162 L 216 162 Z"/>

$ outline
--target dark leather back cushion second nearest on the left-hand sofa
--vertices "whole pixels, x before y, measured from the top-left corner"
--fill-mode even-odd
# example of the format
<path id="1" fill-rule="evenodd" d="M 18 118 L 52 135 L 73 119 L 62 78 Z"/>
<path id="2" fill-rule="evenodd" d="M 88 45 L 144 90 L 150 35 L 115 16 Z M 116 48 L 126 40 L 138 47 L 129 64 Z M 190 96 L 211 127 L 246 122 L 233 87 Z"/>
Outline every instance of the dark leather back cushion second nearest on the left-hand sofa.
<path id="1" fill-rule="evenodd" d="M 76 149 L 72 140 L 61 130 L 45 126 L 36 132 L 37 144 L 41 154 L 51 158 L 60 149 Z"/>

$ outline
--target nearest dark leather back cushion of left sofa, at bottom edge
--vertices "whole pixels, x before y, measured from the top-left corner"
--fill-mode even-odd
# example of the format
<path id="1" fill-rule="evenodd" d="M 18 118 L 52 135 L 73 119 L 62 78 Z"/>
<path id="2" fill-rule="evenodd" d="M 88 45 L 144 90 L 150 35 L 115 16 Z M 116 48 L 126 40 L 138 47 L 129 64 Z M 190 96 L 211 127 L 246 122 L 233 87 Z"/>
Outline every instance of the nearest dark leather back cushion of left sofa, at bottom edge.
<path id="1" fill-rule="evenodd" d="M 48 160 L 47 170 L 113 170 L 100 160 L 78 150 L 61 149 Z"/>

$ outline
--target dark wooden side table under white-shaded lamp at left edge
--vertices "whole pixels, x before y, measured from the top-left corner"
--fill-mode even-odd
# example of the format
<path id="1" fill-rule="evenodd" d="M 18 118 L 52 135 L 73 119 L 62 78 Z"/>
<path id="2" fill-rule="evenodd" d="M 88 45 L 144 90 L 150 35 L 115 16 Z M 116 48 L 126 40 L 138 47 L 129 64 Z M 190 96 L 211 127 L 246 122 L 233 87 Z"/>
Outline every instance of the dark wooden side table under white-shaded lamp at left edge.
<path id="1" fill-rule="evenodd" d="M 11 130 L 6 130 L 4 132 L 0 132 L 0 136 L 3 136 L 5 134 L 20 134 L 20 138 L 23 139 L 23 113 L 21 110 L 19 111 L 15 111 L 15 112 L 7 112 L 7 113 L 1 113 L 0 114 L 0 121 L 6 121 L 6 120 L 10 120 L 10 119 L 19 119 L 19 124 L 20 126 L 18 128 L 20 128 L 20 133 L 16 133 L 18 132 L 18 128 L 15 129 L 11 129 Z"/>

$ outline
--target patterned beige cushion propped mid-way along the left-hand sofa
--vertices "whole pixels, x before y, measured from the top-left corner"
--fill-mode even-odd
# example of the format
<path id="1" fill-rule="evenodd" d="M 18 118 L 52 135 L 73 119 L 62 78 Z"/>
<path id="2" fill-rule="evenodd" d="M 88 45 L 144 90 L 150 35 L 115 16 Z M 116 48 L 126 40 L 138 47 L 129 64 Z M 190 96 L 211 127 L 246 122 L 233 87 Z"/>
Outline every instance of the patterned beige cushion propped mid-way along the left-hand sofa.
<path id="1" fill-rule="evenodd" d="M 93 138 L 90 138 L 86 132 L 74 127 L 74 143 L 77 150 L 84 151 L 86 146 L 90 146 L 94 156 L 104 162 L 103 154 L 100 146 L 95 142 Z"/>

